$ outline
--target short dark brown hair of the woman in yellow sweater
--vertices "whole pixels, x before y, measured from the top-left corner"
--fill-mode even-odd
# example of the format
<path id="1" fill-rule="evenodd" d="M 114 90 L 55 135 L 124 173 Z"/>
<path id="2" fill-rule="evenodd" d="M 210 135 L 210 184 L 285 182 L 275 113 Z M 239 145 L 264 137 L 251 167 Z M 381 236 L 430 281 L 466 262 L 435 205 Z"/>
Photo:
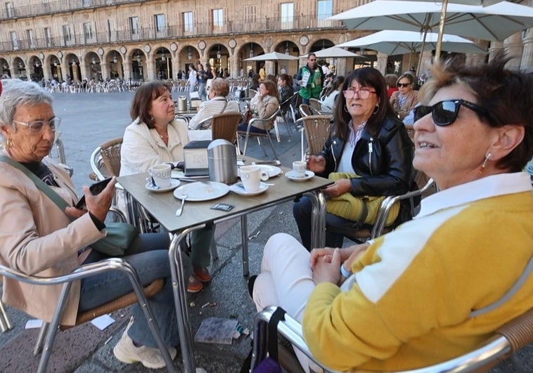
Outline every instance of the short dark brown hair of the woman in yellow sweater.
<path id="1" fill-rule="evenodd" d="M 420 89 L 418 98 L 427 105 L 439 89 L 459 84 L 477 96 L 477 105 L 487 115 L 477 112 L 476 115 L 487 126 L 523 126 L 522 142 L 496 163 L 499 169 L 518 172 L 533 157 L 533 74 L 506 69 L 508 60 L 501 53 L 489 63 L 477 65 L 465 65 L 458 59 L 437 63 L 432 66 L 431 78 Z"/>

